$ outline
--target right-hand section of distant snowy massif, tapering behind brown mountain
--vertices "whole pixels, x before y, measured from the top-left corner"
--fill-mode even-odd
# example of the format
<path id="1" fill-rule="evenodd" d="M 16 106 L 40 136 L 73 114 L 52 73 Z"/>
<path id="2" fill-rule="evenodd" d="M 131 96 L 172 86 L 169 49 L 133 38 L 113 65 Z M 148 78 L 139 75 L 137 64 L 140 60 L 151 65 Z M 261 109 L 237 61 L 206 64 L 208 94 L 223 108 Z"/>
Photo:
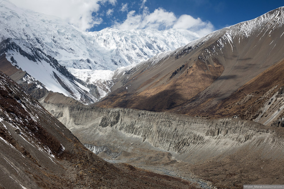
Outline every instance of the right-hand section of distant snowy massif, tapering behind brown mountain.
<path id="1" fill-rule="evenodd" d="M 175 50 L 199 38 L 197 34 L 181 29 L 169 29 L 166 31 L 134 29 L 131 31 L 120 31 L 106 28 L 102 31 L 90 32 L 89 34 L 97 44 L 109 50 L 110 61 L 116 66 L 137 64 L 156 54 Z"/>

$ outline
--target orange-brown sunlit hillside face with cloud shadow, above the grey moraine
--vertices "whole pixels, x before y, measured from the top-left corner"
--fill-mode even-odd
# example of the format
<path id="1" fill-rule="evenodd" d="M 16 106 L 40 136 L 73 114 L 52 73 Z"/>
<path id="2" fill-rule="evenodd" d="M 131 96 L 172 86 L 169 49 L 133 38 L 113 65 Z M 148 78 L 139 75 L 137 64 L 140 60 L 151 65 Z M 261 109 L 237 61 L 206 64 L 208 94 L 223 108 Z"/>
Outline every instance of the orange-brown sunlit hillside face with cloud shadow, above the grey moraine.
<path id="1" fill-rule="evenodd" d="M 106 97 L 107 100 L 103 100 L 99 103 L 99 106 L 167 111 L 203 91 L 223 71 L 223 66 L 218 62 L 213 66 L 208 66 L 208 69 L 207 65 L 200 60 L 190 64 L 191 66 L 184 62 L 182 65 L 168 65 L 170 66 L 161 66 L 162 70 L 158 74 L 156 74 L 156 70 L 159 68 L 155 69 L 155 66 L 151 69 L 155 70 L 154 72 L 149 70 L 137 75 L 137 77 L 127 82 L 125 86 Z M 168 76 L 174 73 L 172 70 L 178 70 L 178 73 L 170 78 Z M 141 80 L 145 78 L 149 79 L 139 85 Z M 133 89 L 137 86 L 137 90 Z M 132 90 L 134 91 L 132 92 Z"/>

